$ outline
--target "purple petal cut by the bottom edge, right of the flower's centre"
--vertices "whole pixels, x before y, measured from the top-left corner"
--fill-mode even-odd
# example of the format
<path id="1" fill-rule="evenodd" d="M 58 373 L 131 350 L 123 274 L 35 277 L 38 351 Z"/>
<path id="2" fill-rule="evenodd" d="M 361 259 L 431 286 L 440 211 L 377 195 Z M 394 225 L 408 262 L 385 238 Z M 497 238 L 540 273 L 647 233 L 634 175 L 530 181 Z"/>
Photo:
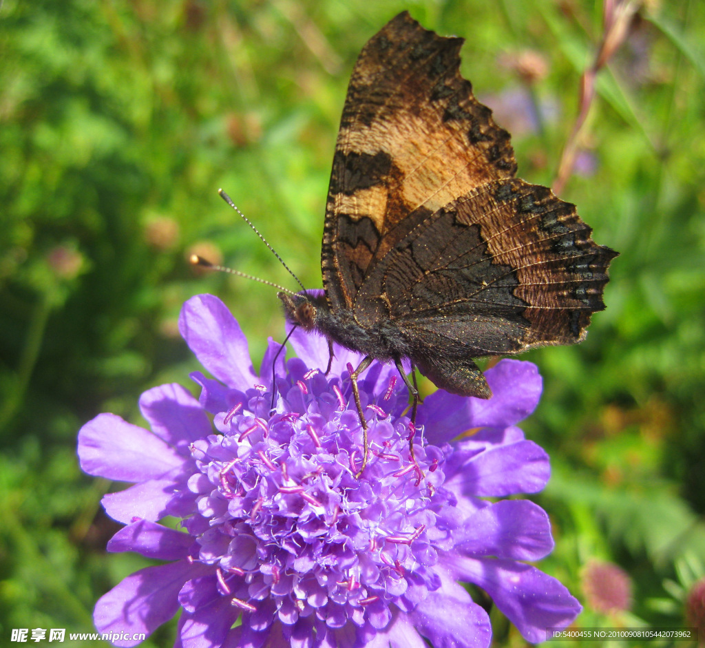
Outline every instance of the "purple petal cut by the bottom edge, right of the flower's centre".
<path id="1" fill-rule="evenodd" d="M 492 638 L 487 613 L 464 587 L 441 575 L 443 585 L 419 603 L 409 618 L 434 648 L 486 648 Z"/>

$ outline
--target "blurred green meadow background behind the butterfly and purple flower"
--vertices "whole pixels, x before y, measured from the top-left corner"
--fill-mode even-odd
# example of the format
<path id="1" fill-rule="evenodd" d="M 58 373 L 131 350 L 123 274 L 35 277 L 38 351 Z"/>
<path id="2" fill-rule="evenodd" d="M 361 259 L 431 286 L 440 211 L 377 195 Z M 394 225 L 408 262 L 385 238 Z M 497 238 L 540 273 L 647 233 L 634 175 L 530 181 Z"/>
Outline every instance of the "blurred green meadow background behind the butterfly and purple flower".
<path id="1" fill-rule="evenodd" d="M 534 499 L 556 550 L 541 568 L 581 599 L 578 625 L 694 625 L 705 623 L 705 3 L 615 4 L 630 17 L 608 43 L 560 197 L 621 256 L 587 341 L 522 356 L 544 377 L 522 427 L 551 454 Z M 12 628 L 92 630 L 95 601 L 147 564 L 104 552 L 118 525 L 99 499 L 122 486 L 82 475 L 76 433 L 106 411 L 141 424 L 151 386 L 192 389 L 197 364 L 177 330 L 192 295 L 225 300 L 255 367 L 266 336 L 281 340 L 274 289 L 197 271 L 188 255 L 296 288 L 222 187 L 306 286 L 321 285 L 350 71 L 405 8 L 467 39 L 462 72 L 513 134 L 519 175 L 551 185 L 603 39 L 600 1 L 1 4 L 0 643 Z M 496 645 L 524 644 L 491 617 Z M 171 646 L 174 628 L 145 645 Z"/>

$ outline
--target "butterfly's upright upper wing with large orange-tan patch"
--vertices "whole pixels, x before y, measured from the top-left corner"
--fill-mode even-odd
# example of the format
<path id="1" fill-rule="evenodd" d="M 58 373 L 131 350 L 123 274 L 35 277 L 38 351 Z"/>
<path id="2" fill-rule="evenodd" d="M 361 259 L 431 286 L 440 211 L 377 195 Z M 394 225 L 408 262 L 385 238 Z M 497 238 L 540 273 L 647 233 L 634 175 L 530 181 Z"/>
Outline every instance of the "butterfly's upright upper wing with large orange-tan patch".
<path id="1" fill-rule="evenodd" d="M 360 53 L 350 78 L 326 204 L 321 269 L 331 308 L 353 307 L 372 268 L 455 197 L 516 171 L 509 134 L 460 76 L 463 39 L 407 12 Z"/>

